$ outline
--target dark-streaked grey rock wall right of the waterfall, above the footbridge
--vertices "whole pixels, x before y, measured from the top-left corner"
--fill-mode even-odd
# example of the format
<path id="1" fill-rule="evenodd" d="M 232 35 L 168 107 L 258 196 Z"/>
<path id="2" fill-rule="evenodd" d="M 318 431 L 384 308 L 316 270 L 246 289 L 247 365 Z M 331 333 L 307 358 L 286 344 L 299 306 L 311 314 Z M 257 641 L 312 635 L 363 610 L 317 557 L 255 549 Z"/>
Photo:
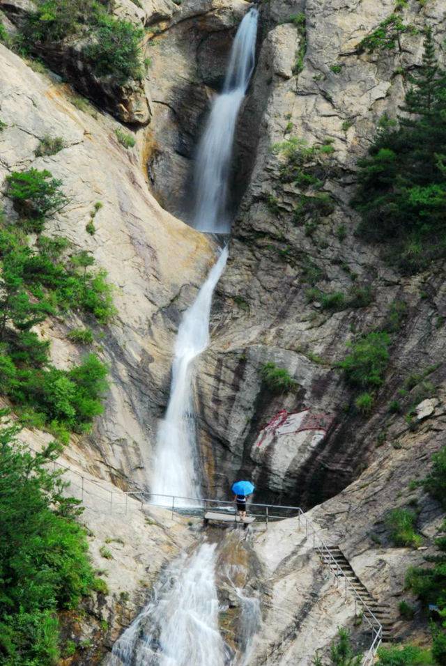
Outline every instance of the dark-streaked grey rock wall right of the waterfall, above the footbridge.
<path id="1" fill-rule="evenodd" d="M 261 6 L 259 60 L 238 130 L 236 178 L 248 185 L 213 309 L 213 345 L 201 359 L 201 444 L 211 493 L 227 492 L 230 470 L 231 478 L 253 476 L 263 499 L 321 502 L 374 459 L 378 434 L 390 422 L 387 405 L 399 398 L 410 373 L 431 374 L 427 385 L 419 380 L 399 398 L 403 412 L 433 398 L 445 380 L 438 365 L 445 348 L 443 267 L 401 277 L 384 263 L 379 247 L 355 236 L 358 219 L 349 206 L 357 157 L 366 152 L 380 116 L 398 113 L 405 90 L 399 72 L 420 63 L 422 27 L 433 26 L 438 44 L 443 34 L 441 3 L 409 3 L 401 19 L 419 31 L 401 38 L 401 51 L 360 52 L 360 40 L 392 10 L 390 2 Z M 305 56 L 297 66 L 302 43 Z M 294 65 L 290 54 L 296 54 Z M 291 137 L 332 146 L 319 174 L 330 206 L 319 215 L 296 213 L 302 189 L 281 178 L 284 158 L 271 147 Z M 368 302 L 354 303 L 358 288 L 370 293 Z M 344 309 L 324 307 L 318 290 L 343 293 Z M 349 341 L 379 330 L 399 308 L 385 385 L 371 415 L 361 415 L 336 364 Z M 287 369 L 296 389 L 272 394 L 261 380 L 266 362 Z M 309 409 L 333 421 L 327 436 L 293 465 L 293 482 L 278 490 L 275 479 L 289 473 L 286 456 L 272 473 L 268 460 L 253 451 L 261 428 L 282 409 Z M 403 431 L 403 416 L 397 420 Z M 300 450 L 298 442 L 292 447 Z"/>

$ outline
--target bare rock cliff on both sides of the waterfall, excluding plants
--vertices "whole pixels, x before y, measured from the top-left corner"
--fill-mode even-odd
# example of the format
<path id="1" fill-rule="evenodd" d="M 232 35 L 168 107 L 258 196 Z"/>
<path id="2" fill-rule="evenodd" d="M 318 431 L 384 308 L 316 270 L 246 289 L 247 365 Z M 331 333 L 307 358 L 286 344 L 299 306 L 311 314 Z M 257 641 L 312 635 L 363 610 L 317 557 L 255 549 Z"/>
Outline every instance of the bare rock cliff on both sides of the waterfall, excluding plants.
<path id="1" fill-rule="evenodd" d="M 419 30 L 431 24 L 440 44 L 441 0 L 403 5 L 403 22 Z M 10 31 L 30 6 L 0 1 Z M 98 107 L 80 104 L 54 73 L 34 72 L 0 45 L 0 119 L 6 123 L 0 132 L 0 180 L 31 164 L 61 178 L 72 201 L 48 231 L 91 251 L 116 285 L 116 320 L 95 347 L 112 378 L 105 413 L 93 433 L 72 437 L 63 454 L 64 463 L 110 488 L 147 490 L 150 485 L 157 419 L 167 403 L 180 315 L 215 256 L 211 240 L 172 214 L 187 219 L 199 127 L 220 88 L 234 29 L 248 7 L 243 0 L 122 1 L 116 13 L 144 26 L 152 61 L 144 82 L 134 88 L 116 90 L 93 80 L 75 56 L 76 45 L 42 52 Z M 420 62 L 422 34 L 403 34 L 399 45 L 385 52 L 360 52 L 362 38 L 392 14 L 394 3 L 387 0 L 277 0 L 260 3 L 260 10 L 258 63 L 236 142 L 233 203 L 240 208 L 213 307 L 212 343 L 199 359 L 199 443 L 207 492 L 226 498 L 229 480 L 246 474 L 261 500 L 307 508 L 323 502 L 313 510 L 315 520 L 396 614 L 406 566 L 420 562 L 421 555 L 389 547 L 385 511 L 402 493 L 401 505 L 410 498 L 420 503 L 419 525 L 426 539 L 439 522 L 438 506 L 420 490 L 408 495 L 407 487 L 424 476 L 446 427 L 446 371 L 440 364 L 446 339 L 444 267 L 401 277 L 383 261 L 379 247 L 357 238 L 358 219 L 349 202 L 357 158 L 366 153 L 380 117 L 397 114 L 406 86 L 401 72 Z M 135 148 L 125 150 L 118 143 L 115 131 L 121 125 L 114 118 L 130 123 Z M 45 134 L 63 137 L 66 147 L 35 157 Z M 319 174 L 330 206 L 313 219 L 296 217 L 302 191 L 282 182 L 282 157 L 271 150 L 293 136 L 308 146 L 334 149 Z M 90 236 L 85 226 L 96 201 L 103 207 Z M 6 197 L 2 203 L 14 215 Z M 310 302 L 308 295 L 311 288 L 341 292 L 351 302 L 358 287 L 369 297 L 336 311 L 324 309 L 317 297 Z M 398 304 L 403 304 L 402 314 L 385 383 L 373 412 L 364 416 L 353 407 L 354 395 L 336 364 L 348 341 L 382 326 Z M 52 342 L 56 366 L 79 359 L 79 348 L 66 333 L 80 323 L 70 316 L 41 327 Z M 268 390 L 261 379 L 266 362 L 289 371 L 297 382 L 293 392 Z M 390 401 L 408 375 L 428 371 L 429 383 L 420 389 L 422 380 L 415 382 L 402 400 L 402 413 L 390 414 Z M 423 414 L 406 421 L 404 412 L 425 398 L 430 402 Z M 34 446 L 45 437 L 26 433 Z M 153 524 L 156 516 L 147 522 L 139 513 L 131 521 L 105 519 L 102 513 L 92 509 L 85 515 L 96 534 L 91 541 L 98 567 L 104 564 L 99 548 L 107 535 L 125 544 L 133 534 L 138 537 L 131 548 L 121 549 L 118 541 L 112 545 L 112 597 L 98 601 L 105 603 L 101 609 L 91 609 L 96 624 L 102 618 L 111 627 L 107 636 L 95 637 L 101 650 L 111 646 L 144 603 L 144 586 L 151 586 L 164 562 L 192 541 L 182 521 L 171 525 L 179 535 L 172 543 Z M 254 548 L 265 566 L 270 596 L 263 599 L 268 631 L 256 644 L 252 663 L 266 663 L 275 653 L 268 663 L 291 664 L 302 650 L 305 663 L 311 663 L 314 650 L 325 648 L 335 633 L 332 618 L 348 623 L 353 608 L 341 606 L 295 522 L 272 527 Z M 120 595 L 127 591 L 130 601 L 123 610 Z M 83 631 L 89 635 L 88 627 Z M 399 631 L 401 637 L 408 633 L 404 626 Z M 92 658 L 86 653 L 84 662 L 76 663 Z"/>

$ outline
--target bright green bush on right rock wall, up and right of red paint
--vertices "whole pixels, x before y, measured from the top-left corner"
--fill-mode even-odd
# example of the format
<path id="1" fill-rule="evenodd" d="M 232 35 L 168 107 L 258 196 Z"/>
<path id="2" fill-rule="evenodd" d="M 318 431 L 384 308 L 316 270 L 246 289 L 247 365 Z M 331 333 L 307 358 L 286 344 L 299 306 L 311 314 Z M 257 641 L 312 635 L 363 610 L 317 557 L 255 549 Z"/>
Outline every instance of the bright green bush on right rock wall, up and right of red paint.
<path id="1" fill-rule="evenodd" d="M 389 362 L 390 336 L 385 332 L 369 333 L 355 343 L 349 343 L 351 353 L 339 367 L 353 386 L 368 389 L 383 384 L 383 374 Z"/>

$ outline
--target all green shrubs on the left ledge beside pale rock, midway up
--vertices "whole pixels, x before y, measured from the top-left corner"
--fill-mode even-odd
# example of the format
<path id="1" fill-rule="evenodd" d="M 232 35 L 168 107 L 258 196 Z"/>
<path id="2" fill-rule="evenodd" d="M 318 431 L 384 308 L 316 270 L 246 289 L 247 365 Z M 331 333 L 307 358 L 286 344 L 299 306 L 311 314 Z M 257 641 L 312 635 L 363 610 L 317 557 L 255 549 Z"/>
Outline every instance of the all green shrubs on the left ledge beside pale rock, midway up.
<path id="1" fill-rule="evenodd" d="M 72 251 L 63 237 L 50 238 L 47 217 L 68 199 L 49 171 L 29 169 L 6 178 L 6 194 L 19 219 L 0 217 L 0 391 L 29 426 L 49 428 L 62 441 L 84 432 L 102 412 L 107 366 L 94 354 L 70 369 L 49 361 L 49 341 L 33 330 L 48 316 L 68 311 L 104 324 L 114 315 L 112 287 L 93 257 Z M 26 231 L 37 234 L 31 245 Z"/>

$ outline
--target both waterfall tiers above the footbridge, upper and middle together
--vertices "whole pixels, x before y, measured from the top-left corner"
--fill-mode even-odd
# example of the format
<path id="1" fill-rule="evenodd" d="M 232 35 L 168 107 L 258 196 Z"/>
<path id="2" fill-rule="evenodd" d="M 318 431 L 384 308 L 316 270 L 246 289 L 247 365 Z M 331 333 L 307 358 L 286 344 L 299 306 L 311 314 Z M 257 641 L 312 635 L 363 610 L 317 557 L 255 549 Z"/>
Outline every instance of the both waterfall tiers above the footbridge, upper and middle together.
<path id="1" fill-rule="evenodd" d="M 213 104 L 197 159 L 197 229 L 229 231 L 226 218 L 229 165 L 238 109 L 254 70 L 258 12 L 250 9 L 238 28 L 231 49 L 224 88 Z M 206 224 L 205 224 L 205 221 Z M 224 270 L 225 248 L 185 312 L 178 329 L 167 412 L 157 432 L 152 497 L 157 504 L 171 503 L 162 495 L 199 497 L 199 465 L 194 414 L 194 361 L 209 343 L 209 318 L 213 291 Z M 190 504 L 176 500 L 176 506 Z"/>

